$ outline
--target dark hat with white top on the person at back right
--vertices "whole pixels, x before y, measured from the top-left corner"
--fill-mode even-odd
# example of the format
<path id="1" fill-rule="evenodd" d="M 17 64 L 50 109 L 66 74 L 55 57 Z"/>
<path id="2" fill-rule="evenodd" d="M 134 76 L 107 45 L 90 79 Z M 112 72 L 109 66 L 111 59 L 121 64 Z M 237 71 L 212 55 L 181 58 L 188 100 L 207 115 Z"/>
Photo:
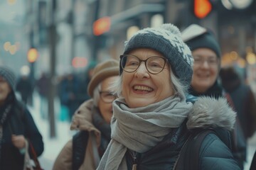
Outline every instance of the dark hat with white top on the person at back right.
<path id="1" fill-rule="evenodd" d="M 188 26 L 188 28 L 182 31 L 181 37 L 188 47 L 190 47 L 191 51 L 206 47 L 213 50 L 217 57 L 220 58 L 220 45 L 212 31 L 196 24 L 191 24 L 191 26 Z"/>

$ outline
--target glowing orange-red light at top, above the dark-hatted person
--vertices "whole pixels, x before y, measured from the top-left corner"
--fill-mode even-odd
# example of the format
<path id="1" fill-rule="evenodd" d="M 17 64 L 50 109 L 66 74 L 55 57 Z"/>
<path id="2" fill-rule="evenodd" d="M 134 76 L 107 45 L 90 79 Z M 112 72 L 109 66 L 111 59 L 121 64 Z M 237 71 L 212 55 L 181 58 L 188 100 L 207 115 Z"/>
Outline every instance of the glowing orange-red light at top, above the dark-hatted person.
<path id="1" fill-rule="evenodd" d="M 194 0 L 193 13 L 197 18 L 205 18 L 212 11 L 212 4 L 209 0 Z"/>

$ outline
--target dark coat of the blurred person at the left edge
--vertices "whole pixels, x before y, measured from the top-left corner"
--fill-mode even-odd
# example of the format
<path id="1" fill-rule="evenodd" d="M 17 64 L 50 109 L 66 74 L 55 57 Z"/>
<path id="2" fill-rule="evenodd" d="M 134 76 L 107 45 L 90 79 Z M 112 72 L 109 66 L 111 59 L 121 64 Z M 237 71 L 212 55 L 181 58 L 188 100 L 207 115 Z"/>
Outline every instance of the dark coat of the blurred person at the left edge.
<path id="1" fill-rule="evenodd" d="M 0 169 L 22 170 L 24 154 L 21 154 L 19 149 L 14 147 L 11 142 L 11 135 L 24 135 L 28 142 L 31 142 L 38 156 L 42 154 L 44 149 L 43 140 L 28 109 L 18 102 L 15 97 L 11 99 L 11 103 L 11 110 L 3 125 Z M 0 111 L 3 111 L 4 106 L 1 106 Z M 30 150 L 29 153 L 32 156 Z"/>

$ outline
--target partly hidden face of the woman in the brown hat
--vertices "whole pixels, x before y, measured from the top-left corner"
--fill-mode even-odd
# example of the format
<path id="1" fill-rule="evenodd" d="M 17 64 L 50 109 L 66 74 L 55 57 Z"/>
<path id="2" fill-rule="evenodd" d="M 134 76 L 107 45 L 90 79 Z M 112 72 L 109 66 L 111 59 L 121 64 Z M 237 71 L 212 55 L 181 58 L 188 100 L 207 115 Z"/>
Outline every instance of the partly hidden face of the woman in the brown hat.
<path id="1" fill-rule="evenodd" d="M 99 100 L 98 106 L 103 119 L 107 123 L 110 123 L 110 120 L 112 118 L 112 115 L 113 115 L 112 101 L 114 101 L 115 99 L 115 97 L 112 96 L 108 88 L 110 86 L 110 83 L 115 81 L 117 78 L 118 76 L 108 77 L 107 79 L 104 79 L 101 83 L 100 100 Z"/>

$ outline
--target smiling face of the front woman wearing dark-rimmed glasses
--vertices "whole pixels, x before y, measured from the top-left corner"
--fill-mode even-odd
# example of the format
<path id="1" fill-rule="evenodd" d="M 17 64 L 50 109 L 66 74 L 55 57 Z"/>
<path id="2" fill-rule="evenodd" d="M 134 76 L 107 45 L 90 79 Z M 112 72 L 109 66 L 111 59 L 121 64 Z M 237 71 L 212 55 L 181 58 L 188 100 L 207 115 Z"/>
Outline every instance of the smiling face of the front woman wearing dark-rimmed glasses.
<path id="1" fill-rule="evenodd" d="M 164 57 L 160 52 L 148 48 L 132 50 L 129 55 L 137 56 L 139 60 L 146 60 L 152 56 Z M 148 106 L 174 95 L 168 62 L 158 74 L 149 73 L 145 62 L 141 62 L 136 71 L 124 71 L 122 74 L 122 96 L 129 108 Z"/>

